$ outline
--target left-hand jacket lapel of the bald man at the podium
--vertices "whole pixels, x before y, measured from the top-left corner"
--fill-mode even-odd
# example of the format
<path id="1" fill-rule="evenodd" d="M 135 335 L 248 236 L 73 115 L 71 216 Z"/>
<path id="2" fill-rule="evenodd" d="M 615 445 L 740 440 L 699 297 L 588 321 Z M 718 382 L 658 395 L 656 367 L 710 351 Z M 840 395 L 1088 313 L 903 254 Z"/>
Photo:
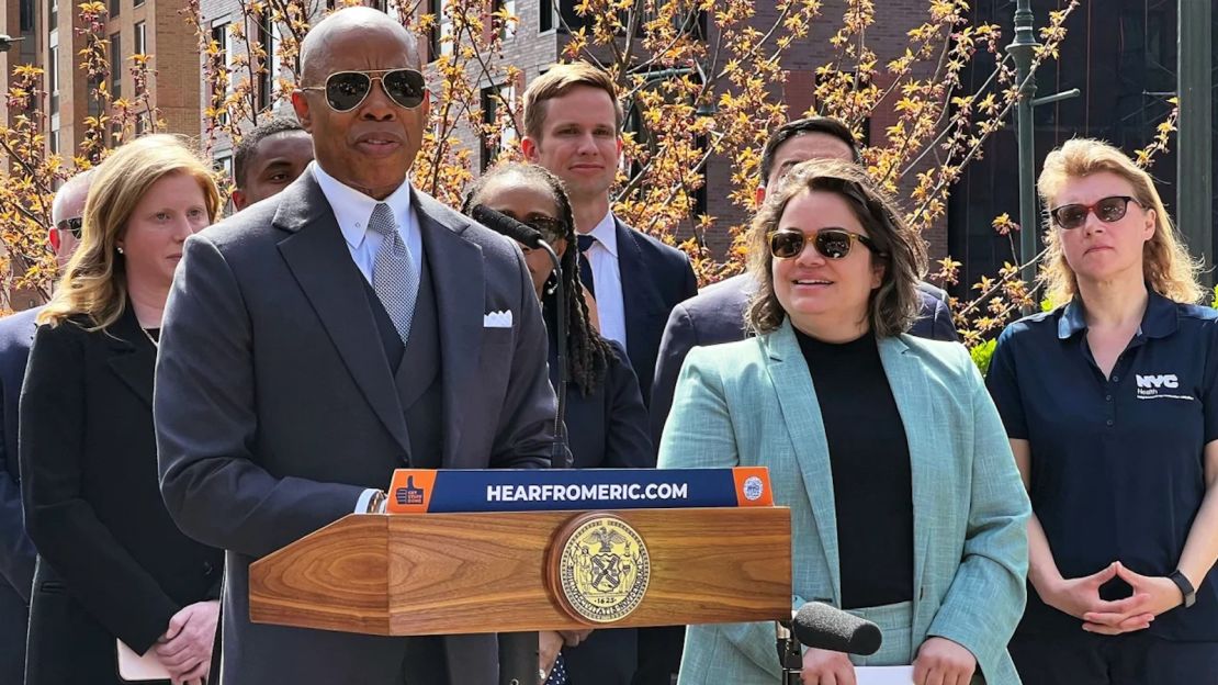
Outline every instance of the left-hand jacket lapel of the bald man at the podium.
<path id="1" fill-rule="evenodd" d="M 373 412 L 403 455 L 409 455 L 406 416 L 364 294 L 364 277 L 351 258 L 334 211 L 312 172 L 302 174 L 283 195 L 272 221 L 275 228 L 289 232 L 279 243 L 279 252 Z"/>

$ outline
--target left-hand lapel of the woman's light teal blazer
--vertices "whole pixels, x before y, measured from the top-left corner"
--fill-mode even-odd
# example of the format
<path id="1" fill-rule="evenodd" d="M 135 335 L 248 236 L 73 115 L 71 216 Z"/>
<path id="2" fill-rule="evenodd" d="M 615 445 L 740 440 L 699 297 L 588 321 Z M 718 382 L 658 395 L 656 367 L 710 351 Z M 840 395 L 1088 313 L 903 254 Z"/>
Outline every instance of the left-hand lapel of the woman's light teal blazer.
<path id="1" fill-rule="evenodd" d="M 790 435 L 799 473 L 808 491 L 808 502 L 816 519 L 825 558 L 833 572 L 833 601 L 842 605 L 842 579 L 837 542 L 837 505 L 833 499 L 833 472 L 829 467 L 829 444 L 825 436 L 812 375 L 799 350 L 790 319 L 765 336 L 770 379 L 778 395 L 783 423 Z"/>

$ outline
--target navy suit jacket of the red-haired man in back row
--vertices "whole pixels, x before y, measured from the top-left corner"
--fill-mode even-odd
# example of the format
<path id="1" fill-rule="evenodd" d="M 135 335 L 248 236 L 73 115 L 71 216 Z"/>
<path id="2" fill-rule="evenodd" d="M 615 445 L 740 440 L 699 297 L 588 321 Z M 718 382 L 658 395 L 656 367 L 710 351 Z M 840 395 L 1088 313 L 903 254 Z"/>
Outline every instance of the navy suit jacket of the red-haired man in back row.
<path id="1" fill-rule="evenodd" d="M 676 247 L 615 219 L 621 300 L 626 313 L 626 352 L 638 377 L 643 402 L 650 402 L 655 357 L 669 312 L 698 294 L 689 257 Z"/>

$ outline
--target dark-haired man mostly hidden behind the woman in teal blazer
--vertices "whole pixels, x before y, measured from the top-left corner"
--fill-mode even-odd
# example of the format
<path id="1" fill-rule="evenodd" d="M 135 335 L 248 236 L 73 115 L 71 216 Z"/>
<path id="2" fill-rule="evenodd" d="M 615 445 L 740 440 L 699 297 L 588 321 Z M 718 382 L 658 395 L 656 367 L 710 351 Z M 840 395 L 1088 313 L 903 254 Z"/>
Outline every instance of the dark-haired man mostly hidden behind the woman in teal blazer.
<path id="1" fill-rule="evenodd" d="M 842 122 L 829 117 L 809 117 L 775 129 L 761 152 L 762 183 L 758 186 L 758 205 L 765 199 L 766 186 L 775 188 L 792 167 L 826 157 L 859 161 L 854 137 Z M 652 385 L 652 438 L 657 445 L 672 407 L 672 392 L 686 355 L 693 347 L 742 340 L 747 335 L 744 308 L 754 286 L 753 277 L 742 273 L 706 286 L 697 297 L 672 310 L 664 329 Z M 957 340 L 951 311 L 945 303 L 948 294 L 922 282 L 918 296 L 922 299 L 922 312 L 910 334 L 933 340 Z"/>

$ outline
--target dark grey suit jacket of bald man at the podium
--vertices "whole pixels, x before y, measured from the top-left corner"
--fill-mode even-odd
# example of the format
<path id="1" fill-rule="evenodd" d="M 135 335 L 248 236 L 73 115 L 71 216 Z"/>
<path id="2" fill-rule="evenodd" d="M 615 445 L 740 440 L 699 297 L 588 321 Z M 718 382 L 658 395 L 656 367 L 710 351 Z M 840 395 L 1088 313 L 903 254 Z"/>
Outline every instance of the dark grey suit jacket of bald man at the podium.
<path id="1" fill-rule="evenodd" d="M 520 250 L 421 193 L 413 202 L 440 322 L 443 467 L 547 466 L 555 400 Z M 447 637 L 438 656 L 250 622 L 252 561 L 351 513 L 409 463 L 365 283 L 312 173 L 186 241 L 157 362 L 161 485 L 183 531 L 228 551 L 225 685 L 498 679 L 495 635 Z M 504 311 L 510 327 L 486 327 Z M 449 678 L 412 678 L 424 657 Z"/>

